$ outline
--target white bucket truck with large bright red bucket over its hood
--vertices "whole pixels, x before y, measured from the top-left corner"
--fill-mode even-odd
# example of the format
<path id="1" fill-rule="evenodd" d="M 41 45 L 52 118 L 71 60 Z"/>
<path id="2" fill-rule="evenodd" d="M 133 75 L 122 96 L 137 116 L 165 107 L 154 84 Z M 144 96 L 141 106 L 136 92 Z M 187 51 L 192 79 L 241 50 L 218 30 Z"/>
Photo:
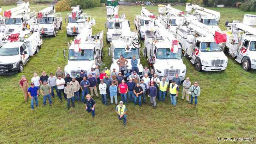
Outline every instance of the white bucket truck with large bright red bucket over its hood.
<path id="1" fill-rule="evenodd" d="M 197 71 L 226 70 L 228 59 L 221 49 L 226 42 L 226 34 L 191 20 L 188 26 L 178 29 L 177 39 Z"/>

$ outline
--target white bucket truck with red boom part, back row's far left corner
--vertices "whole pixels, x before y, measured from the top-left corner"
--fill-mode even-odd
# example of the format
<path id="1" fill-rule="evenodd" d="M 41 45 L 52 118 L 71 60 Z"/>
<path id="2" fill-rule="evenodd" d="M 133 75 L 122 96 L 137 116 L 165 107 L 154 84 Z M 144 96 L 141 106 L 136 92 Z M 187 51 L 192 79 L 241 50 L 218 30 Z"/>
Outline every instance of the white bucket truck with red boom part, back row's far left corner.
<path id="1" fill-rule="evenodd" d="M 4 11 L 4 24 L 2 30 L 10 35 L 14 30 L 27 30 L 30 24 L 35 23 L 35 11 L 30 12 L 29 2 L 18 1 L 17 7 Z"/>

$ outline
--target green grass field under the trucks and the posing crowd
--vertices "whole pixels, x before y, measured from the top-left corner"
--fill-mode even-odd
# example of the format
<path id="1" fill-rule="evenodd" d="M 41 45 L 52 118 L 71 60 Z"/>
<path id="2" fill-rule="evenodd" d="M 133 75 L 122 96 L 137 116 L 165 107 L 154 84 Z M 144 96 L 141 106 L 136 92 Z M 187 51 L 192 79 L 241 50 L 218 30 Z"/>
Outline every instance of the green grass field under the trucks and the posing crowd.
<path id="1" fill-rule="evenodd" d="M 34 10 L 41 10 L 32 5 Z M 184 6 L 175 6 L 185 10 Z M 2 6 L 3 10 L 11 6 Z M 157 13 L 157 6 L 148 6 L 149 11 Z M 220 27 L 225 30 L 226 20 L 242 20 L 244 13 L 236 8 L 212 8 L 221 13 Z M 84 10 L 95 18 L 93 33 L 105 30 L 103 66 L 110 67 L 106 44 L 106 8 L 95 7 Z M 141 13 L 140 6 L 120 6 L 119 14 L 125 13 L 131 22 Z M 256 14 L 256 13 L 251 13 Z M 62 17 L 67 12 L 62 12 Z M 96 98 L 96 116 L 93 119 L 85 112 L 83 104 L 67 110 L 66 101 L 60 103 L 55 97 L 53 107 L 40 107 L 30 110 L 30 101 L 23 103 L 23 93 L 18 82 L 25 74 L 31 80 L 34 72 L 55 72 L 67 64 L 62 49 L 72 37 L 66 36 L 66 23 L 57 37 L 43 38 L 42 49 L 24 66 L 24 72 L 12 76 L 0 76 L 0 143 L 218 143 L 218 137 L 256 138 L 256 71 L 246 72 L 241 65 L 228 56 L 228 67 L 222 72 L 197 72 L 187 58 L 187 76 L 191 82 L 198 81 L 201 95 L 198 106 L 181 101 L 172 107 L 167 102 L 157 103 L 157 109 L 143 105 L 139 108 L 128 104 L 127 126 L 117 119 L 114 105 L 103 106 Z M 135 31 L 135 26 L 131 24 Z M 142 54 L 141 54 L 142 55 Z M 142 57 L 142 64 L 146 60 Z M 120 99 L 120 97 L 118 98 Z M 149 102 L 149 99 L 147 99 Z M 48 103 L 47 103 L 48 104 Z M 234 143 L 234 142 L 232 142 Z M 253 143 L 253 142 L 252 142 Z M 254 142 L 255 143 L 255 142 Z"/>

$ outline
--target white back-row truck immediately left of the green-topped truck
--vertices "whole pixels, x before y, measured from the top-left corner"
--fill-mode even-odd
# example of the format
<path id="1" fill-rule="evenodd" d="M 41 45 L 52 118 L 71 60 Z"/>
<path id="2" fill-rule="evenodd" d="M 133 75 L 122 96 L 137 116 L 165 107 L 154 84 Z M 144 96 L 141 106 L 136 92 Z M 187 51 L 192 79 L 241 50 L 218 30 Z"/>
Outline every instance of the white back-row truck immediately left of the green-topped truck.
<path id="1" fill-rule="evenodd" d="M 92 19 L 87 14 L 83 13 L 81 6 L 71 7 L 72 12 L 67 14 L 68 17 L 65 17 L 65 22 L 67 23 L 66 30 L 67 36 L 78 35 L 85 25 L 91 23 L 95 20 Z"/>

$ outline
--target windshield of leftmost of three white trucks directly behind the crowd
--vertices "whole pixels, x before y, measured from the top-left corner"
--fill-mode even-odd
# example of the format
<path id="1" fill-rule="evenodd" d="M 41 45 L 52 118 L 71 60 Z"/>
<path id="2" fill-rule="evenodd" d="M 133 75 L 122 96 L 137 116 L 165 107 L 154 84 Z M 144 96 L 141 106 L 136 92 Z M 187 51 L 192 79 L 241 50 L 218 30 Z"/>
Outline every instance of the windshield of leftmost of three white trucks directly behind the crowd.
<path id="1" fill-rule="evenodd" d="M 82 49 L 81 52 L 76 53 L 70 49 L 69 60 L 94 60 L 94 52 L 92 49 Z"/>

